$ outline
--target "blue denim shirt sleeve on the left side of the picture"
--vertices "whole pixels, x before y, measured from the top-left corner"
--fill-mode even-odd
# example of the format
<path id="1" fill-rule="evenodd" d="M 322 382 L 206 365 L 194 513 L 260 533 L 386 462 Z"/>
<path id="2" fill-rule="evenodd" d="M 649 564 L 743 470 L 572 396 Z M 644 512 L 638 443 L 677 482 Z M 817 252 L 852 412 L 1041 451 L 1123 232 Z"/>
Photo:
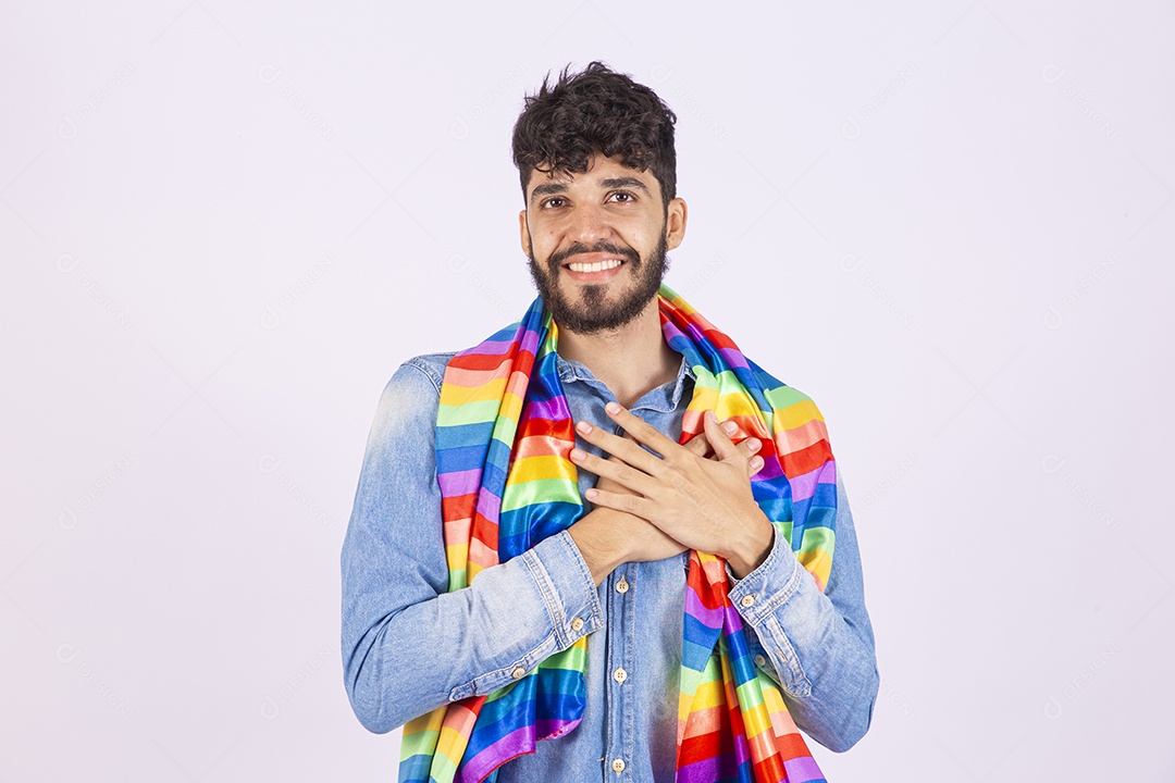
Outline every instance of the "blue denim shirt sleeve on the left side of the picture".
<path id="1" fill-rule="evenodd" d="M 566 531 L 448 592 L 439 384 L 417 357 L 384 387 L 340 558 L 344 684 L 356 717 L 377 734 L 496 690 L 604 625 Z"/>

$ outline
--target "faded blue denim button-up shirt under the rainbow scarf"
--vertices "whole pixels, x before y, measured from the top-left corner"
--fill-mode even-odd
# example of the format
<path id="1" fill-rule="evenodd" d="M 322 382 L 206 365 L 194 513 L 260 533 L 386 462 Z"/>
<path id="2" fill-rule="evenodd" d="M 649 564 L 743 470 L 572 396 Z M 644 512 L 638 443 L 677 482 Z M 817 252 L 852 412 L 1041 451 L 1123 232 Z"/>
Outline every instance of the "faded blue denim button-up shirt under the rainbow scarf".
<path id="1" fill-rule="evenodd" d="M 624 563 L 597 587 L 564 531 L 448 593 L 434 436 L 452 356 L 401 365 L 368 438 L 341 556 L 343 673 L 355 715 L 370 731 L 391 731 L 501 688 L 518 667 L 530 670 L 590 636 L 583 721 L 503 764 L 498 781 L 672 781 L 689 553 Z M 604 412 L 611 391 L 579 362 L 558 357 L 557 366 L 573 419 L 618 432 Z M 692 390 L 683 358 L 676 380 L 630 410 L 676 440 Z M 600 453 L 578 437 L 577 445 Z M 596 479 L 579 471 L 580 495 Z M 727 573 L 756 664 L 780 684 L 810 737 L 844 751 L 868 729 L 878 671 L 839 470 L 837 479 L 837 544 L 824 593 L 778 535 L 757 569 L 741 580 Z"/>

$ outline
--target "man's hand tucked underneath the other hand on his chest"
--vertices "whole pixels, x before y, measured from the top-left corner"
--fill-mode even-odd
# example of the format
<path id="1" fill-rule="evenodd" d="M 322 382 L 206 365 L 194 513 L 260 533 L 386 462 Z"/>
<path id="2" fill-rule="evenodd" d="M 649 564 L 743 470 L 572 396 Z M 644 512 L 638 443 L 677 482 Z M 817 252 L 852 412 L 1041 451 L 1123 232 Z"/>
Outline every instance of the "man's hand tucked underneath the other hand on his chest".
<path id="1" fill-rule="evenodd" d="M 631 439 L 627 434 L 624 437 Z M 737 447 L 745 457 L 751 458 L 759 450 L 760 444 L 756 441 L 756 447 L 752 448 L 747 445 L 747 440 Z M 699 457 L 714 457 L 713 447 L 706 440 L 705 433 L 699 432 L 683 445 Z M 761 467 L 761 460 L 751 461 L 747 480 Z M 626 487 L 604 477 L 599 478 L 596 486 L 610 492 L 631 493 Z M 569 533 L 576 546 L 579 547 L 579 553 L 597 585 L 604 581 L 622 562 L 664 560 L 686 549 L 685 546 L 666 535 L 649 520 L 613 508 L 593 508 L 572 525 Z"/>

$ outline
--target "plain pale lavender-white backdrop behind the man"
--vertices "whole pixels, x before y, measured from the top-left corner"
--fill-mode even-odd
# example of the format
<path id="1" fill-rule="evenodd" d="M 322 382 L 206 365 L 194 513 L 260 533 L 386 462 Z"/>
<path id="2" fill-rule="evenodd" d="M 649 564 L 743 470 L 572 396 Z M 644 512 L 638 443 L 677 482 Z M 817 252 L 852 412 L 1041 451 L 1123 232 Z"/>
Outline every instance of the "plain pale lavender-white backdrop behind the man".
<path id="1" fill-rule="evenodd" d="M 679 116 L 669 284 L 828 421 L 828 778 L 1175 779 L 1175 8 L 1007 0 L 4 4 L 0 778 L 395 779 L 368 430 L 533 297 L 510 131 L 595 59 Z"/>

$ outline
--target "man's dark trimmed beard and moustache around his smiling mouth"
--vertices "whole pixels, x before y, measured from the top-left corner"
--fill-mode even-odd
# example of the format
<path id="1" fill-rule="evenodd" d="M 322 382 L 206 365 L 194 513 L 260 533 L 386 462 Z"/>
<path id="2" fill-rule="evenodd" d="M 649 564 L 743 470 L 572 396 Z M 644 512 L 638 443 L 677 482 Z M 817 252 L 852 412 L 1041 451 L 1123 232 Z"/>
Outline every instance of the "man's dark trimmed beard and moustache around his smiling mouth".
<path id="1" fill-rule="evenodd" d="M 529 256 L 530 276 L 559 329 L 568 329 L 580 335 L 593 335 L 619 329 L 644 311 L 649 301 L 657 296 L 665 272 L 669 271 L 667 251 L 669 244 L 665 241 L 664 231 L 662 231 L 657 249 L 647 258 L 642 258 L 640 254 L 627 245 L 622 248 L 604 239 L 591 248 L 573 244 L 566 250 L 551 254 L 550 258 L 546 259 L 545 271 L 543 264 L 539 264 L 535 256 Z M 559 288 L 563 263 L 569 257 L 583 252 L 616 254 L 624 257 L 625 263 L 632 266 L 633 281 L 630 288 L 620 291 L 619 299 L 612 303 L 606 301 L 609 285 L 615 285 L 620 277 L 619 275 L 609 283 L 580 285 L 578 301 L 571 301 L 564 295 L 563 289 Z"/>

